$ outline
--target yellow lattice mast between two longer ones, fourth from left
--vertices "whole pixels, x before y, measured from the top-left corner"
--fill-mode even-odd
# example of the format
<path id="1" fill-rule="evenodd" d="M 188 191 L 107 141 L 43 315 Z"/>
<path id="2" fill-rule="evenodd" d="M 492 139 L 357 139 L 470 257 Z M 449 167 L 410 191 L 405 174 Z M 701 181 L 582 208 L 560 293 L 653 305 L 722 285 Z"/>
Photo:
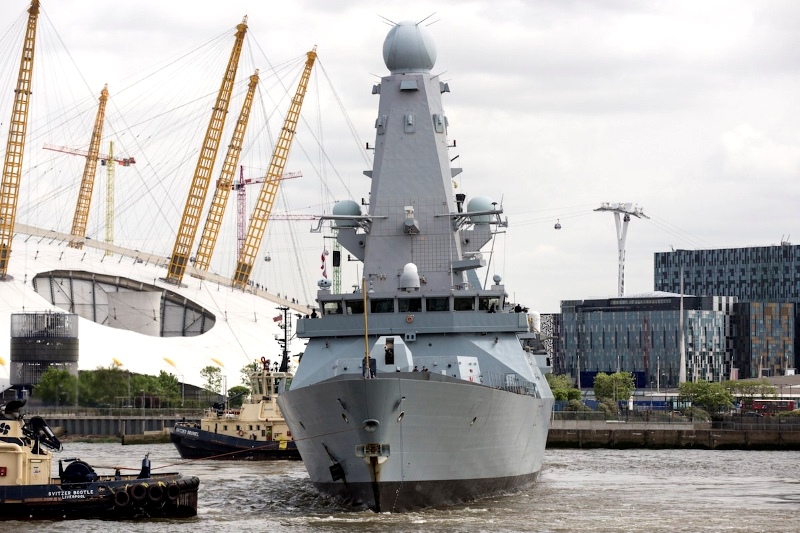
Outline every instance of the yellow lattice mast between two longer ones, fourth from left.
<path id="1" fill-rule="evenodd" d="M 222 225 L 222 217 L 225 216 L 225 206 L 228 204 L 228 196 L 231 192 L 233 175 L 236 172 L 236 163 L 239 161 L 239 154 L 242 151 L 244 132 L 247 129 L 247 122 L 250 120 L 250 108 L 253 106 L 253 95 L 258 85 L 258 70 L 250 76 L 250 85 L 247 87 L 247 96 L 236 128 L 233 131 L 231 144 L 228 145 L 228 153 L 225 155 L 225 163 L 222 165 L 222 172 L 217 181 L 217 188 L 214 191 L 214 198 L 211 200 L 211 207 L 208 210 L 208 218 L 203 228 L 203 235 L 200 237 L 200 244 L 197 247 L 194 266 L 200 270 L 208 270 L 211 263 L 211 255 L 214 253 L 214 246 L 217 244 L 219 228 Z"/>

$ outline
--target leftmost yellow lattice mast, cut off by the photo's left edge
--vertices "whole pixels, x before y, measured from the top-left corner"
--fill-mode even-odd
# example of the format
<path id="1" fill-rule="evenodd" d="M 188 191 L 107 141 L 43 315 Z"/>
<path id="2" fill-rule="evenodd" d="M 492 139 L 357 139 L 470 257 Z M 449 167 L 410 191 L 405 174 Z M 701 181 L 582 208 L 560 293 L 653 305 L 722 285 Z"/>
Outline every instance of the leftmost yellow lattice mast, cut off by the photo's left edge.
<path id="1" fill-rule="evenodd" d="M 8 126 L 6 157 L 3 163 L 3 182 L 0 184 L 0 279 L 6 279 L 8 261 L 11 259 L 11 240 L 17 218 L 19 181 L 22 176 L 22 158 L 25 155 L 25 134 L 28 129 L 28 107 L 33 77 L 33 53 L 36 49 L 36 25 L 39 20 L 39 0 L 31 0 L 28 25 L 22 44 L 17 87 L 14 90 L 14 107 Z"/>

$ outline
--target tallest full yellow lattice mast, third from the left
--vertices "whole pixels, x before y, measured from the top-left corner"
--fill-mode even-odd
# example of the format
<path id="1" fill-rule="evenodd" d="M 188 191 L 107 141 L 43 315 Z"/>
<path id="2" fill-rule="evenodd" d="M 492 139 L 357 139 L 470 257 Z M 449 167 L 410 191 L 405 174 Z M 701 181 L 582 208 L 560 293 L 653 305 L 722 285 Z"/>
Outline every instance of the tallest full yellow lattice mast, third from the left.
<path id="1" fill-rule="evenodd" d="M 236 40 L 228 60 L 228 67 L 217 94 L 217 101 L 211 113 L 211 120 L 208 123 L 203 148 L 200 150 L 200 157 L 197 160 L 197 167 L 194 171 L 194 178 L 189 189 L 189 197 L 186 200 L 186 207 L 181 217 L 181 225 L 178 235 L 175 238 L 175 247 L 170 256 L 169 270 L 164 281 L 174 285 L 180 285 L 183 274 L 189 264 L 189 254 L 191 253 L 192 243 L 197 234 L 197 225 L 200 222 L 200 215 L 203 211 L 203 204 L 208 193 L 208 185 L 211 181 L 211 171 L 217 159 L 222 129 L 225 124 L 225 116 L 228 114 L 228 104 L 233 92 L 233 82 L 236 79 L 236 70 L 239 64 L 239 56 L 242 54 L 242 44 L 247 33 L 247 17 L 242 23 L 236 26 Z"/>

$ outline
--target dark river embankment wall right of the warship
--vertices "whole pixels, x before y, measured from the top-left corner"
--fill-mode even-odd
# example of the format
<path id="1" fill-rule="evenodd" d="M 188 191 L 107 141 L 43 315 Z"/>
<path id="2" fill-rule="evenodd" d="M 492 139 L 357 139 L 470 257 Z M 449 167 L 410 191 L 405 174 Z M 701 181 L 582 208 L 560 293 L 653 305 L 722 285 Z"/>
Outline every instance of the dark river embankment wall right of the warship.
<path id="1" fill-rule="evenodd" d="M 548 448 L 800 450 L 800 424 L 654 424 L 554 420 Z M 738 426 L 738 427 L 737 427 Z"/>

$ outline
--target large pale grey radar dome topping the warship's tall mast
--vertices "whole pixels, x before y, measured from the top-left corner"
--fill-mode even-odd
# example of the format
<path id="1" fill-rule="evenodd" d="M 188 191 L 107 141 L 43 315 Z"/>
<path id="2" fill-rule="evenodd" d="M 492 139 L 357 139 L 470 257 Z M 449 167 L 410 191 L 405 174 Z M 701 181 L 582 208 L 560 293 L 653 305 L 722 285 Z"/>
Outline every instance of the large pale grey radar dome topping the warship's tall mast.
<path id="1" fill-rule="evenodd" d="M 429 72 L 436 63 L 436 45 L 424 26 L 405 20 L 383 41 L 383 62 L 392 73 Z"/>

